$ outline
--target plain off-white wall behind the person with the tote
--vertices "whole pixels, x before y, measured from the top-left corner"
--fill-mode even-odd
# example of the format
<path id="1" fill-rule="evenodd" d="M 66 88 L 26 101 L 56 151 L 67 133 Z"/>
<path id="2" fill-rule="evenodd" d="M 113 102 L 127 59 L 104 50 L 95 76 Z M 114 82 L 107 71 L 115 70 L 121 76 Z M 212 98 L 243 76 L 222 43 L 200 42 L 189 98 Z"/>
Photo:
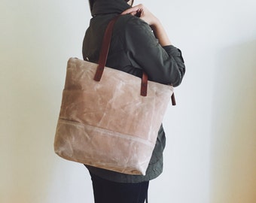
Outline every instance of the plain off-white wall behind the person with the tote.
<path id="1" fill-rule="evenodd" d="M 256 2 L 136 2 L 187 65 L 150 202 L 256 202 Z M 66 60 L 81 58 L 89 19 L 82 0 L 1 2 L 0 202 L 93 202 L 84 166 L 53 153 Z"/>

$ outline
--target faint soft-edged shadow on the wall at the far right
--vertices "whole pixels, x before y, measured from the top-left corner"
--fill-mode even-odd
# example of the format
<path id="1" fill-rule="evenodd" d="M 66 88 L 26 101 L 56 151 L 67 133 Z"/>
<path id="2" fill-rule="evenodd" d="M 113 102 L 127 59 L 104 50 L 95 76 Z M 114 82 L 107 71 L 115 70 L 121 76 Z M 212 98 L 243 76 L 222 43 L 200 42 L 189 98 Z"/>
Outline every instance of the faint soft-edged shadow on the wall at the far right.
<path id="1" fill-rule="evenodd" d="M 215 65 L 212 203 L 256 202 L 256 40 L 227 47 Z"/>

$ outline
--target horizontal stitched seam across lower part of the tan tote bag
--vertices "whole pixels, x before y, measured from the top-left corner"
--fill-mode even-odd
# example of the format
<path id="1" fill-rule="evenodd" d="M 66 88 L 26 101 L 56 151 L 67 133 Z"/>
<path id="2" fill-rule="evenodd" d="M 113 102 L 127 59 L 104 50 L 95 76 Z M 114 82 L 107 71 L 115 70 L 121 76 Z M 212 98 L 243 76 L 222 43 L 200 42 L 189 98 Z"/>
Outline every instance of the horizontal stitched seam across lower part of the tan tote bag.
<path id="1" fill-rule="evenodd" d="M 69 125 L 72 125 L 72 126 L 81 126 L 81 127 L 87 127 L 87 128 L 90 128 L 90 129 L 98 129 L 98 131 L 104 131 L 105 134 L 108 134 L 108 135 L 111 135 L 111 136 L 117 136 L 117 137 L 120 137 L 120 138 L 125 138 L 127 140 L 133 140 L 133 141 L 139 141 L 143 144 L 146 144 L 150 147 L 154 147 L 154 144 L 152 144 L 150 141 L 145 141 L 144 139 L 142 138 L 136 138 L 132 135 L 127 135 L 127 134 L 122 134 L 120 132 L 114 132 L 112 130 L 109 130 L 109 129 L 102 129 L 102 128 L 99 128 L 99 127 L 96 127 L 96 126 L 90 126 L 90 125 L 87 125 L 87 124 L 84 124 L 84 123 L 78 123 L 76 121 L 73 121 L 73 120 L 66 120 L 66 119 L 63 119 L 63 118 L 59 118 L 59 123 L 66 123 L 66 124 L 69 124 Z M 113 135 L 114 133 L 114 135 Z M 102 135 L 104 136 L 104 135 Z"/>

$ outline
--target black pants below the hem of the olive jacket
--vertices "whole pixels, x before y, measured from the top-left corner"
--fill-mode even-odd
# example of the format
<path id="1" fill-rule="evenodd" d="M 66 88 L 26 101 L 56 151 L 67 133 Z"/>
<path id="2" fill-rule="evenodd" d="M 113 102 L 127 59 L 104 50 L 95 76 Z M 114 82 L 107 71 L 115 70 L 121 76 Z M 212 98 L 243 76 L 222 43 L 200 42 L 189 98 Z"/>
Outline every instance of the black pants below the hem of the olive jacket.
<path id="1" fill-rule="evenodd" d="M 148 183 L 116 183 L 90 174 L 95 203 L 144 203 Z"/>

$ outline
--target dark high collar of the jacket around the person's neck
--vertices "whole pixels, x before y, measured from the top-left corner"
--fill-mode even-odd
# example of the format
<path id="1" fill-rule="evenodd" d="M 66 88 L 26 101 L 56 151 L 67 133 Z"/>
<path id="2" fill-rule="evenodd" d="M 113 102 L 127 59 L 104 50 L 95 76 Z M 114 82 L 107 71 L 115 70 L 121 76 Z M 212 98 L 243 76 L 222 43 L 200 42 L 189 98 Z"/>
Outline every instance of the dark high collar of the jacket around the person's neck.
<path id="1" fill-rule="evenodd" d="M 99 14 L 121 14 L 126 9 L 130 8 L 130 5 L 125 0 L 90 0 L 90 9 L 92 16 Z"/>

